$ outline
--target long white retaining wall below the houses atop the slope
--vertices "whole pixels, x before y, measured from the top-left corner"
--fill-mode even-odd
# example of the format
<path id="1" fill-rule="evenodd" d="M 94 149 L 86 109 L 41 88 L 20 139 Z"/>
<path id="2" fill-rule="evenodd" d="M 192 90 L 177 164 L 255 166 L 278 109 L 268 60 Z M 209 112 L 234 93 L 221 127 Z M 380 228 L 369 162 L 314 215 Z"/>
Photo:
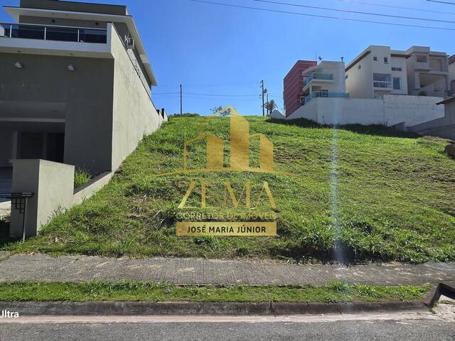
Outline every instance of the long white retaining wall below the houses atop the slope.
<path id="1" fill-rule="evenodd" d="M 382 124 L 393 126 L 405 122 L 414 126 L 444 117 L 437 106 L 439 97 L 385 95 L 381 99 L 316 98 L 287 119 L 305 118 L 319 124 Z"/>

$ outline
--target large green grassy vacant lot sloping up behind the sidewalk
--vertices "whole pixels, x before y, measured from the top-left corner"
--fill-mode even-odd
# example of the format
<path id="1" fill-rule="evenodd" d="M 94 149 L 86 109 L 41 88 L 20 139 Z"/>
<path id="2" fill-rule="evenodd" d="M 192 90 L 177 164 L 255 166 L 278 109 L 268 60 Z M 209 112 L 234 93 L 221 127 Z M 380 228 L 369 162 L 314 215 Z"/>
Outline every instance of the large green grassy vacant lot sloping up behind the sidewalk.
<path id="1" fill-rule="evenodd" d="M 381 127 L 334 131 L 305 121 L 248 120 L 252 132 L 273 141 L 275 168 L 294 176 L 159 175 L 182 168 L 183 141 L 198 134 L 199 118 L 171 119 L 144 139 L 95 197 L 55 217 L 40 236 L 6 248 L 114 256 L 331 259 L 342 254 L 455 261 L 455 162 L 444 155 L 443 140 Z M 217 118 L 205 131 L 228 140 L 228 129 L 228 119 Z M 253 150 L 257 162 L 257 144 Z M 192 166 L 203 165 L 204 151 L 204 146 L 193 148 Z M 338 179 L 332 192 L 331 175 Z M 176 237 L 176 207 L 195 177 L 230 180 L 236 190 L 250 180 L 253 193 L 267 180 L 277 202 L 279 237 Z M 213 185 L 209 192 L 212 203 L 220 204 L 223 188 Z"/>

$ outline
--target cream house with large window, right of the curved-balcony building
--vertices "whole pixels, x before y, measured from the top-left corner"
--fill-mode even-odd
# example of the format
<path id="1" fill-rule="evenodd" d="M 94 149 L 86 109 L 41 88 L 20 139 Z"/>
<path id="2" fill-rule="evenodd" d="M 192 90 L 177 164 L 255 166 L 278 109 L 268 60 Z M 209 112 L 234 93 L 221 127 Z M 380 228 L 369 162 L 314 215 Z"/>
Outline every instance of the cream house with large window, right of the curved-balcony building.
<path id="1" fill-rule="evenodd" d="M 353 98 L 408 94 L 407 55 L 371 45 L 346 65 L 346 91 Z"/>

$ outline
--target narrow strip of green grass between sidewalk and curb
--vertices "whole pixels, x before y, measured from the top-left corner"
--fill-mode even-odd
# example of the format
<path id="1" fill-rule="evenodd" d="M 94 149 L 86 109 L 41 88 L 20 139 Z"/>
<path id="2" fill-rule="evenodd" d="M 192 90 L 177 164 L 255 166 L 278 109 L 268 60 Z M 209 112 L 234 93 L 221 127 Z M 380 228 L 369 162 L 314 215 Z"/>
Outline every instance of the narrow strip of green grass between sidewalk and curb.
<path id="1" fill-rule="evenodd" d="M 353 302 L 413 301 L 424 286 L 173 286 L 141 282 L 3 282 L 0 301 Z"/>

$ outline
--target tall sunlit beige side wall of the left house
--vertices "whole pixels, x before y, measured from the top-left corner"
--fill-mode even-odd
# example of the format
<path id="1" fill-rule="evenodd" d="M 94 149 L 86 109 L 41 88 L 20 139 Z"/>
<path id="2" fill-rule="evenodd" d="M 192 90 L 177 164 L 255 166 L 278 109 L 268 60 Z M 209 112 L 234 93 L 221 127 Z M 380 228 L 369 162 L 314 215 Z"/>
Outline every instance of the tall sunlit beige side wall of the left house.
<path id="1" fill-rule="evenodd" d="M 112 170 L 115 170 L 134 151 L 144 135 L 161 126 L 163 118 L 156 112 L 127 51 L 114 33 L 112 55 L 115 59 Z"/>

